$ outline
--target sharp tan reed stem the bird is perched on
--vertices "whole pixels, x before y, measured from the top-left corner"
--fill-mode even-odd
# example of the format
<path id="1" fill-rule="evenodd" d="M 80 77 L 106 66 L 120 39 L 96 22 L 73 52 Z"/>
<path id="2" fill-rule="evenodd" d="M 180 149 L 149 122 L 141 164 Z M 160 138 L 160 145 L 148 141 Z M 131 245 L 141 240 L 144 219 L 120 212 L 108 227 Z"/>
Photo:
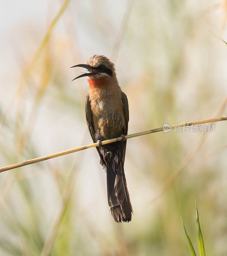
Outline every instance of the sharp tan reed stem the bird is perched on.
<path id="1" fill-rule="evenodd" d="M 187 123 L 182 123 L 182 124 L 173 124 L 173 125 L 171 125 L 171 129 L 173 129 L 176 125 L 179 126 L 179 127 L 183 127 L 183 126 L 191 126 L 191 125 L 195 125 L 195 124 L 214 123 L 214 122 L 225 121 L 225 120 L 227 120 L 227 116 L 205 119 L 205 120 L 199 120 L 199 121 L 194 121 L 194 122 L 187 122 Z M 138 137 L 138 136 L 142 136 L 142 135 L 147 135 L 147 134 L 154 133 L 154 132 L 161 132 L 161 131 L 163 131 L 163 127 L 156 128 L 156 129 L 149 130 L 149 131 L 145 131 L 145 132 L 137 132 L 137 133 L 129 134 L 129 135 L 126 135 L 125 138 L 130 139 L 130 138 L 134 138 L 134 137 Z M 113 142 L 116 142 L 116 141 L 121 141 L 121 137 L 110 139 L 110 140 L 103 140 L 102 145 L 113 143 Z M 67 154 L 71 154 L 71 153 L 74 153 L 74 152 L 78 152 L 78 151 L 81 151 L 81 150 L 84 150 L 84 149 L 87 149 L 87 148 L 93 148 L 93 147 L 98 147 L 98 143 L 96 142 L 96 143 L 89 144 L 89 145 L 86 145 L 86 146 L 68 149 L 68 150 L 58 152 L 58 153 L 48 155 L 48 156 L 41 156 L 41 157 L 34 158 L 34 159 L 31 159 L 31 160 L 27 160 L 27 161 L 24 161 L 24 162 L 21 162 L 21 163 L 18 163 L 18 164 L 7 165 L 7 166 L 4 166 L 4 167 L 0 168 L 0 172 L 8 171 L 8 170 L 15 169 L 15 168 L 25 166 L 25 165 L 28 165 L 28 164 L 38 163 L 38 162 L 45 161 L 45 160 L 48 160 L 48 159 L 51 159 L 51 158 L 55 158 L 55 157 L 58 157 L 58 156 L 64 156 L 64 155 L 67 155 Z"/>

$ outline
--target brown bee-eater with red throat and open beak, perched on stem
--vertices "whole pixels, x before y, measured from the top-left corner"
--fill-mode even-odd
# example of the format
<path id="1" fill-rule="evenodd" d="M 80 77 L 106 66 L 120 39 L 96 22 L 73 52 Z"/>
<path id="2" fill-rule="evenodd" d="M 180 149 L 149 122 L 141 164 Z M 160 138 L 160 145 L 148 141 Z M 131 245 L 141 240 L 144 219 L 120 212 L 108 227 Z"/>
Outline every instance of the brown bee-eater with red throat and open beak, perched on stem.
<path id="1" fill-rule="evenodd" d="M 116 222 L 132 219 L 124 160 L 126 150 L 125 135 L 128 134 L 128 99 L 118 84 L 114 64 L 103 55 L 94 55 L 87 64 L 73 67 L 86 68 L 84 73 L 73 80 L 87 76 L 89 92 L 85 111 L 89 132 L 100 156 L 100 164 L 106 171 L 107 199 Z M 72 68 L 73 68 L 72 67 Z M 102 140 L 121 136 L 121 141 L 102 145 Z"/>

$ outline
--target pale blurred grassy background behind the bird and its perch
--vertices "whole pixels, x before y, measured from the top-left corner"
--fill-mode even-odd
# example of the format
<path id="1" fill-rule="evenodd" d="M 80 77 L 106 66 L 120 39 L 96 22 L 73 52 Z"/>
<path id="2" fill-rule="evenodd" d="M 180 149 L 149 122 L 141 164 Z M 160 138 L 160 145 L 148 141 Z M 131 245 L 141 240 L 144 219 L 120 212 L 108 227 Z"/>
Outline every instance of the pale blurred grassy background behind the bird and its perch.
<path id="1" fill-rule="evenodd" d="M 70 67 L 94 54 L 115 63 L 129 133 L 226 116 L 227 47 L 208 30 L 226 41 L 226 17 L 226 0 L 2 2 L 0 165 L 92 143 Z M 0 255 L 189 255 L 195 198 L 206 254 L 226 255 L 226 125 L 128 140 L 130 223 L 114 223 L 94 148 L 1 173 Z"/>

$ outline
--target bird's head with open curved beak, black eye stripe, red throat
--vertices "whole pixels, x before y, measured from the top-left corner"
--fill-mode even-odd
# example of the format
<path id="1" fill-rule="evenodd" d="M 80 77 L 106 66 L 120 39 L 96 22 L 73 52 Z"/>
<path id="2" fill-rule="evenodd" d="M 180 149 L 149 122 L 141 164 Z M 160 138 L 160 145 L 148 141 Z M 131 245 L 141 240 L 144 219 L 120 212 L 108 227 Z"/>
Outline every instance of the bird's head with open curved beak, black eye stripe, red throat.
<path id="1" fill-rule="evenodd" d="M 87 76 L 90 85 L 107 83 L 116 78 L 114 63 L 103 55 L 94 55 L 87 61 L 87 64 L 78 64 L 71 68 L 74 67 L 86 68 L 89 72 L 77 76 L 73 80 Z"/>

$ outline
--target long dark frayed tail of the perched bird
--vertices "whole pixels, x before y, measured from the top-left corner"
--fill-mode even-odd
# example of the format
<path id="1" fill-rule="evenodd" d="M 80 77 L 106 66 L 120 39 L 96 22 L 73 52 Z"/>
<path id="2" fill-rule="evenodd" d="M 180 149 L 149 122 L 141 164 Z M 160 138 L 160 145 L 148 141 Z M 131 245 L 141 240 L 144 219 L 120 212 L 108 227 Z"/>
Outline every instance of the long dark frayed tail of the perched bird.
<path id="1" fill-rule="evenodd" d="M 116 163 L 114 163 L 115 165 Z M 115 172 L 113 170 L 115 169 Z M 132 206 L 129 199 L 124 167 L 120 162 L 113 166 L 106 163 L 107 197 L 111 214 L 116 222 L 129 222 L 132 219 Z"/>

